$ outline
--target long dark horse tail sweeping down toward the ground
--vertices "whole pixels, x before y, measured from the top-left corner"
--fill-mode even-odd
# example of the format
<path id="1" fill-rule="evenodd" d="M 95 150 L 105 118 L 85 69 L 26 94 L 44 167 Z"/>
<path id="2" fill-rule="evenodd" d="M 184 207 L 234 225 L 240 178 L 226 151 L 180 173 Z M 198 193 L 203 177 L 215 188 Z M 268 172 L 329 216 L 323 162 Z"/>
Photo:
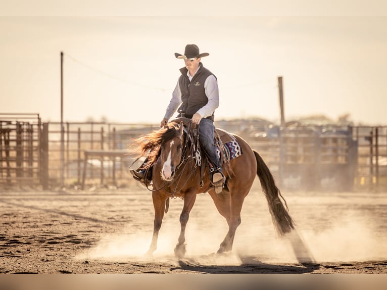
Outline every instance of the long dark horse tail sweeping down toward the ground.
<path id="1" fill-rule="evenodd" d="M 280 190 L 275 184 L 274 177 L 270 172 L 270 169 L 267 167 L 266 163 L 263 161 L 262 157 L 255 150 L 255 158 L 257 160 L 257 175 L 261 182 L 261 187 L 263 194 L 266 197 L 266 200 L 269 204 L 269 211 L 271 214 L 271 219 L 273 221 L 276 232 L 283 236 L 283 234 L 290 232 L 294 229 L 294 221 L 288 213 L 288 208 L 286 205 L 285 199 L 282 197 Z M 280 197 L 285 203 L 285 206 L 282 204 Z"/>

